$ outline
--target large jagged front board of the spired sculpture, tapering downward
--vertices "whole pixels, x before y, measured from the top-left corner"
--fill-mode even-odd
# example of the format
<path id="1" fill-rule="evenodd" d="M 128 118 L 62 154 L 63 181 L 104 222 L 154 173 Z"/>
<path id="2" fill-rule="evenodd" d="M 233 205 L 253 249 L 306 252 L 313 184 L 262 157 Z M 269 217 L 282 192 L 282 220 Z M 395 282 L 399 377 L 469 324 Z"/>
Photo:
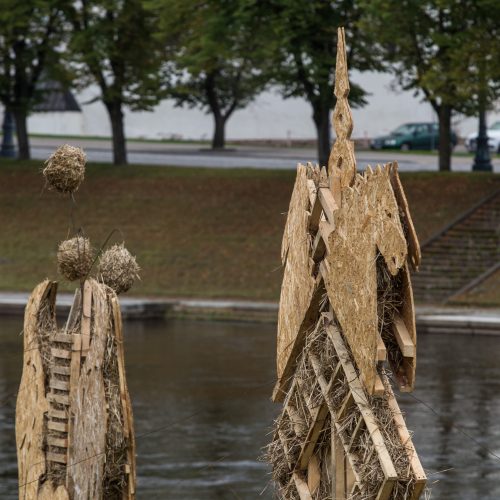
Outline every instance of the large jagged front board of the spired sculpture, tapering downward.
<path id="1" fill-rule="evenodd" d="M 406 261 L 407 243 L 391 186 L 391 166 L 370 167 L 342 190 L 336 230 L 324 276 L 328 297 L 340 323 L 366 390 L 377 377 L 377 249 L 395 275 Z"/>

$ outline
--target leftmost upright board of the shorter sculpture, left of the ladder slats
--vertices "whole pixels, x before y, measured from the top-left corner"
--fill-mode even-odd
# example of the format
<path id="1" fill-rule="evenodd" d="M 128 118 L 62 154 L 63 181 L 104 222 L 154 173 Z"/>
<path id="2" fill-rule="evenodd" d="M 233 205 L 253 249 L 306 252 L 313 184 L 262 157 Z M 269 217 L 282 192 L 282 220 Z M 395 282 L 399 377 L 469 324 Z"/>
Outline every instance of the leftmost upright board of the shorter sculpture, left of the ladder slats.
<path id="1" fill-rule="evenodd" d="M 38 496 L 39 478 L 46 472 L 44 414 L 49 409 L 45 394 L 45 373 L 38 328 L 41 318 L 55 327 L 57 284 L 45 280 L 33 290 L 24 316 L 23 373 L 16 402 L 16 446 L 19 470 L 19 498 Z"/>

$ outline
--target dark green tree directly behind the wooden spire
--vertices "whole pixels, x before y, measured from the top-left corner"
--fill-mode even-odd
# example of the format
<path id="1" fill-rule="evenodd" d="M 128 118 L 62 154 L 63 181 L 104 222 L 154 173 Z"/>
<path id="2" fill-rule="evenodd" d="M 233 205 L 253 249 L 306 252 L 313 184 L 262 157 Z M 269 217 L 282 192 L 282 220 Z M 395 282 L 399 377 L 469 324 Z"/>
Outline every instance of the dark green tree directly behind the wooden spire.
<path id="1" fill-rule="evenodd" d="M 272 33 L 273 80 L 287 97 L 304 97 L 312 107 L 316 127 L 318 160 L 328 163 L 330 152 L 330 112 L 335 105 L 333 81 L 337 28 L 343 26 L 348 45 L 350 69 L 377 69 L 375 53 L 358 29 L 362 11 L 353 0 L 275 0 L 269 5 L 268 30 Z M 366 104 L 366 91 L 350 83 L 351 106 Z"/>

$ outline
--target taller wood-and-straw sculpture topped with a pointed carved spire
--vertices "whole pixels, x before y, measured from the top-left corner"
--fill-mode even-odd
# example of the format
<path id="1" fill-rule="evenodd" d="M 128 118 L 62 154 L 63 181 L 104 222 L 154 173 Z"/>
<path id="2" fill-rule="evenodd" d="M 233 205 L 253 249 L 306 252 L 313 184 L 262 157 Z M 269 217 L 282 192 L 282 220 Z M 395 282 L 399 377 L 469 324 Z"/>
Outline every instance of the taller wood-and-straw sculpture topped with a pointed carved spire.
<path id="1" fill-rule="evenodd" d="M 299 165 L 283 236 L 267 459 L 281 498 L 418 499 L 426 476 L 394 397 L 415 383 L 409 267 L 420 248 L 396 163 L 356 173 L 339 29 L 328 170 Z"/>

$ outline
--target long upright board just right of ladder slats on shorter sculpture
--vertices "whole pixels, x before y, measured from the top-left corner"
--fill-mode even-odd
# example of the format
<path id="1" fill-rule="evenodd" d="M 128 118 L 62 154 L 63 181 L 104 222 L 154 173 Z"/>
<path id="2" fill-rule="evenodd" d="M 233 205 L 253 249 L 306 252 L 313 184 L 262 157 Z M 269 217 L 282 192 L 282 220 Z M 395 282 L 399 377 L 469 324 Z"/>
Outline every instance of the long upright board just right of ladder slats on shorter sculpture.
<path id="1" fill-rule="evenodd" d="M 92 286 L 93 331 L 90 348 L 81 365 L 71 406 L 73 425 L 69 437 L 67 478 L 75 498 L 102 498 L 106 451 L 106 397 L 102 365 L 110 311 L 104 286 Z"/>

